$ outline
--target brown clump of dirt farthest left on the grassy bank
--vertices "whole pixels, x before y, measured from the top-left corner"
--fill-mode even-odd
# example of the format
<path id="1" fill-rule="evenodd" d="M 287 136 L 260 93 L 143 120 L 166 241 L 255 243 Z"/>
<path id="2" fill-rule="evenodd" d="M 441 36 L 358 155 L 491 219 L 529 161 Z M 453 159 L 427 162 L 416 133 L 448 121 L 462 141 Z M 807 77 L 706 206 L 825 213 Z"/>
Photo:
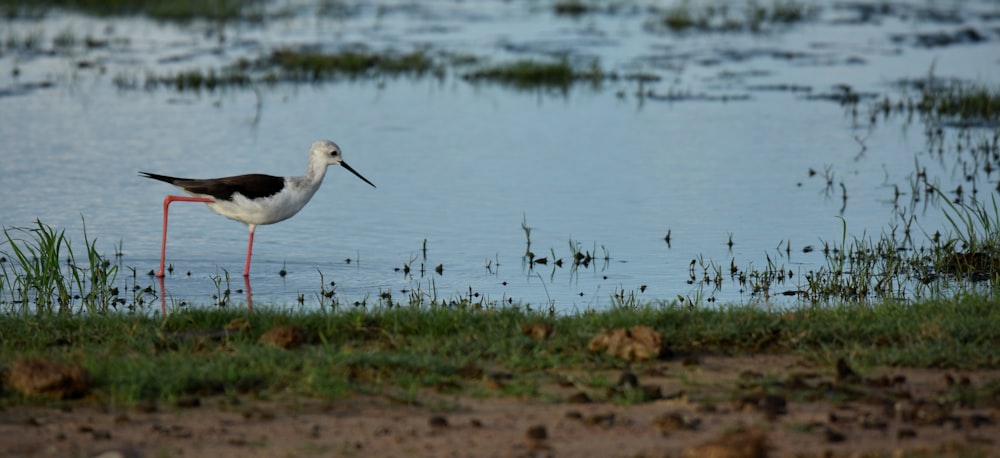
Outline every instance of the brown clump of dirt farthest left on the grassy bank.
<path id="1" fill-rule="evenodd" d="M 92 383 L 83 367 L 45 358 L 14 361 L 7 382 L 24 396 L 50 399 L 82 397 Z"/>

